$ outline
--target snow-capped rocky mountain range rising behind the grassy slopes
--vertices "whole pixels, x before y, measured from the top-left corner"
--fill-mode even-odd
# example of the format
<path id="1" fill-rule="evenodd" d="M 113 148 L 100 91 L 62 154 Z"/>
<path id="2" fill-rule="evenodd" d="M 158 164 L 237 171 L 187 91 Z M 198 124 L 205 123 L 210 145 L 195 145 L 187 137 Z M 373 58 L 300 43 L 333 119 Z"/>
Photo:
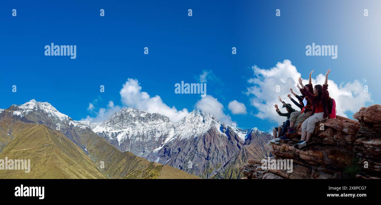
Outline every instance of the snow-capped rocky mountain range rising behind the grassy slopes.
<path id="1" fill-rule="evenodd" d="M 70 139 L 74 139 L 83 129 L 90 128 L 122 152 L 130 151 L 151 162 L 182 170 L 185 168 L 188 173 L 207 178 L 212 176 L 208 171 L 210 162 L 215 163 L 214 167 L 220 167 L 233 159 L 243 146 L 269 138 L 268 133 L 261 136 L 257 128 L 243 130 L 230 126 L 203 110 L 193 110 L 179 122 L 172 122 L 162 114 L 123 108 L 107 120 L 89 122 L 74 121 L 50 103 L 32 99 L 22 105 L 0 110 L 0 113 L 2 116 L 10 114 L 21 120 L 46 124 L 51 129 L 56 129 L 58 124 L 61 132 L 65 132 Z M 191 168 L 189 162 L 193 164 Z"/>

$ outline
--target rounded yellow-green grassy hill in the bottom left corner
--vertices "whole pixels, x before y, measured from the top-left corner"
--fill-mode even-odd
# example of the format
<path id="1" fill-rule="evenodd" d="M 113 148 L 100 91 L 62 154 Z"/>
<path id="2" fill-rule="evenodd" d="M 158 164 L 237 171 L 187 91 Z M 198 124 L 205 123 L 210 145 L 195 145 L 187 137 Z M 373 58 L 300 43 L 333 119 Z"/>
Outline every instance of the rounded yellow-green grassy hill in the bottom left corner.
<path id="1" fill-rule="evenodd" d="M 13 140 L 2 150 L 0 159 L 30 159 L 30 172 L 2 170 L 1 178 L 106 178 L 90 157 L 62 133 L 19 121 L 9 128 Z"/>

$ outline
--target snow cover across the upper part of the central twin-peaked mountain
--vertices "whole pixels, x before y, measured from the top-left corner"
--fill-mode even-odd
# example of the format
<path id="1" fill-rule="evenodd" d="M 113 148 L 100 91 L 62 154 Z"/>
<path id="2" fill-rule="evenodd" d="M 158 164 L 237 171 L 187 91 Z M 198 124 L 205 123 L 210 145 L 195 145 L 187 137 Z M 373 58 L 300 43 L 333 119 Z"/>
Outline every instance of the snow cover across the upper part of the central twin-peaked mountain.
<path id="1" fill-rule="evenodd" d="M 193 110 L 178 122 L 172 122 L 162 114 L 148 113 L 134 108 L 123 108 L 102 122 L 79 121 L 90 127 L 106 140 L 117 140 L 121 151 L 131 151 L 131 143 L 138 144 L 142 153 L 158 152 L 175 140 L 194 139 L 205 135 L 208 130 L 217 130 L 227 137 L 232 130 L 240 140 L 245 141 L 248 130 L 229 126 L 203 110 Z M 147 146 L 150 147 L 147 150 Z M 153 147 L 152 147 L 153 146 Z"/>

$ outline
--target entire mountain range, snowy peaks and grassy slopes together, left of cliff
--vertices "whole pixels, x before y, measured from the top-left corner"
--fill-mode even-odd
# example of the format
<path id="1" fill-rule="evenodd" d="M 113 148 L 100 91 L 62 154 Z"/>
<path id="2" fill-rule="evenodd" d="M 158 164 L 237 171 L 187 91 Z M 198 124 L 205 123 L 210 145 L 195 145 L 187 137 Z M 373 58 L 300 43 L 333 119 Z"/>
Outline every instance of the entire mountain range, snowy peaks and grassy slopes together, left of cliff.
<path id="1" fill-rule="evenodd" d="M 270 138 L 202 110 L 171 122 L 162 114 L 123 108 L 105 121 L 89 122 L 30 100 L 0 109 L 0 159 L 30 159 L 30 173 L 0 170 L 0 178 L 237 179 L 248 159 L 272 156 Z"/>

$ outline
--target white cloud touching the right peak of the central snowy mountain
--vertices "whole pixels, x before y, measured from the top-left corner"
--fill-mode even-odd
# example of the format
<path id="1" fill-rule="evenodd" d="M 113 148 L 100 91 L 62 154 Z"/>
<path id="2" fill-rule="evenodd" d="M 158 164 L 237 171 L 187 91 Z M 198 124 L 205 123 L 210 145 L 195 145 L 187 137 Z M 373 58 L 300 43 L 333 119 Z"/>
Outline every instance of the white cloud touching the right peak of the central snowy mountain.
<path id="1" fill-rule="evenodd" d="M 232 118 L 224 113 L 224 106 L 222 103 L 218 102 L 218 100 L 211 95 L 202 97 L 199 101 L 197 101 L 195 106 L 198 109 L 213 114 L 222 122 L 225 122 L 229 125 L 233 123 Z"/>

